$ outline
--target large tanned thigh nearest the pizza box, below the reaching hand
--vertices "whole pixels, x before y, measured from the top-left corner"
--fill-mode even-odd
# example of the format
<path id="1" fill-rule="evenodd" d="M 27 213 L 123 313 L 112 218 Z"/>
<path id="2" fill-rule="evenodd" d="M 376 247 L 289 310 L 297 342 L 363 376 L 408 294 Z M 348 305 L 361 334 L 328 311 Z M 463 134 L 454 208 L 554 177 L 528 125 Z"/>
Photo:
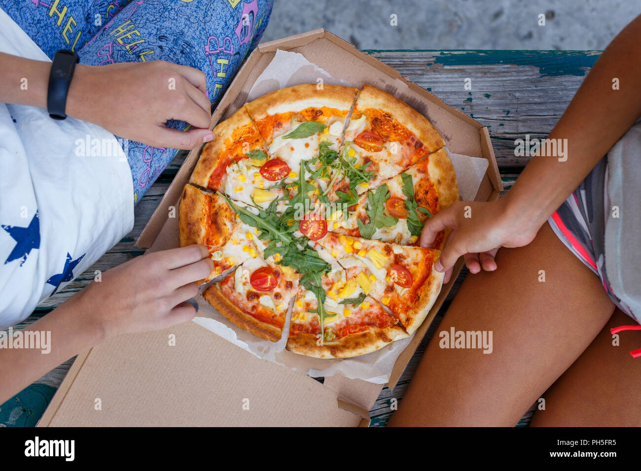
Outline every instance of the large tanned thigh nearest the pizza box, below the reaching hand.
<path id="1" fill-rule="evenodd" d="M 547 223 L 496 261 L 496 271 L 466 277 L 390 426 L 514 426 L 612 315 L 599 278 Z M 450 327 L 492 331 L 492 353 L 441 349 Z"/>

